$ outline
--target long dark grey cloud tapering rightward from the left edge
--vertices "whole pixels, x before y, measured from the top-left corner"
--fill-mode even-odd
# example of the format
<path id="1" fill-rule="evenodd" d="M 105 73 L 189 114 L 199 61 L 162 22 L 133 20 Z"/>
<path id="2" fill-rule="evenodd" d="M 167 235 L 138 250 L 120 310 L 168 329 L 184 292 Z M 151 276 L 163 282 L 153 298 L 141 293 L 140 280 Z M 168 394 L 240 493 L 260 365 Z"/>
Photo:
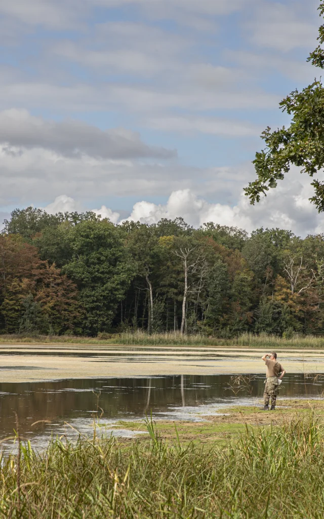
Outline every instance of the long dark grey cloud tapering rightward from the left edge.
<path id="1" fill-rule="evenodd" d="M 170 158 L 175 150 L 148 146 L 138 133 L 124 128 L 102 131 L 78 120 L 45 120 L 27 110 L 0 113 L 0 142 L 24 148 L 45 148 L 64 156 L 101 158 Z"/>

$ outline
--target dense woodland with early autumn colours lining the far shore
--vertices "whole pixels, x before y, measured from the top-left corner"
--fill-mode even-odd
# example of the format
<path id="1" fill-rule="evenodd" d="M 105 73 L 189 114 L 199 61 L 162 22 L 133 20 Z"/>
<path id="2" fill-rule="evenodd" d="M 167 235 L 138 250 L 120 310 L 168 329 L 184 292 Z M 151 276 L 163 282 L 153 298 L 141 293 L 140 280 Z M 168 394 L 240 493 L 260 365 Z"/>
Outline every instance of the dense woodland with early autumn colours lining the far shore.
<path id="1" fill-rule="evenodd" d="M 4 224 L 1 333 L 324 333 L 324 235 L 31 207 Z"/>

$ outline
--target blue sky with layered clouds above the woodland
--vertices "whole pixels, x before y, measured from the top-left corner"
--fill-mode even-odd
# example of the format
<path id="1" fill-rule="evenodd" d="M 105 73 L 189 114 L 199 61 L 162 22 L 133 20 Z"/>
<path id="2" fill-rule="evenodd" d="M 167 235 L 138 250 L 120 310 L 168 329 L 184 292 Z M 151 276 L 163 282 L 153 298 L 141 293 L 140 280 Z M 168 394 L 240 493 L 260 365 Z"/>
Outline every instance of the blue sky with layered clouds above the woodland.
<path id="1" fill-rule="evenodd" d="M 94 210 L 324 232 L 307 175 L 243 194 L 278 103 L 319 77 L 319 0 L 1 0 L 0 220 Z"/>

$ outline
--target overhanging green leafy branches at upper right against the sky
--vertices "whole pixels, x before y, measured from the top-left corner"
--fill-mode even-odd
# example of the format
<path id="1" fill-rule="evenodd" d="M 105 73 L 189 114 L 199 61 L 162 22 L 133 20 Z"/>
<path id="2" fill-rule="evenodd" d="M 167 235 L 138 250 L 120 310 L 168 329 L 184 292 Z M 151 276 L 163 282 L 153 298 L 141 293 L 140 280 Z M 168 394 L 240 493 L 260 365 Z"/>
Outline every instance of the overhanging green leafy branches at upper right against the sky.
<path id="1" fill-rule="evenodd" d="M 324 2 L 318 9 L 323 16 Z M 319 28 L 318 39 L 320 44 L 324 43 L 324 25 Z M 317 47 L 307 61 L 324 69 L 324 50 Z M 321 80 L 315 80 L 301 92 L 294 90 L 279 106 L 292 116 L 292 121 L 289 128 L 271 131 L 267 127 L 261 135 L 266 146 L 257 152 L 253 161 L 257 180 L 245 188 L 252 204 L 260 201 L 261 193 L 266 196 L 269 188 L 276 187 L 277 180 L 283 180 L 292 165 L 311 177 L 324 167 L 324 87 Z M 318 212 L 324 211 L 324 182 L 313 180 L 311 185 L 315 196 L 309 200 Z"/>

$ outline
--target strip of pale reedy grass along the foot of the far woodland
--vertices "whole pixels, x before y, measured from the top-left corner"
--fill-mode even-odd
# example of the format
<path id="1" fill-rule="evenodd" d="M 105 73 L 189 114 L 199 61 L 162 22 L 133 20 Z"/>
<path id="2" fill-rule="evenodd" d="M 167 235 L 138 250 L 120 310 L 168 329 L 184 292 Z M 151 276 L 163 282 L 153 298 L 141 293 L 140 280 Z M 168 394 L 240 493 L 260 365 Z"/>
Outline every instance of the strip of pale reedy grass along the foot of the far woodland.
<path id="1" fill-rule="evenodd" d="M 72 335 L 0 335 L 0 344 L 77 344 L 77 345 L 125 345 L 125 346 L 232 346 L 266 349 L 280 348 L 324 348 L 324 336 L 298 336 L 282 338 L 276 335 L 253 335 L 246 333 L 240 337 L 217 338 L 204 335 L 181 335 L 180 333 L 145 332 L 107 334 L 103 337 L 80 337 Z"/>

